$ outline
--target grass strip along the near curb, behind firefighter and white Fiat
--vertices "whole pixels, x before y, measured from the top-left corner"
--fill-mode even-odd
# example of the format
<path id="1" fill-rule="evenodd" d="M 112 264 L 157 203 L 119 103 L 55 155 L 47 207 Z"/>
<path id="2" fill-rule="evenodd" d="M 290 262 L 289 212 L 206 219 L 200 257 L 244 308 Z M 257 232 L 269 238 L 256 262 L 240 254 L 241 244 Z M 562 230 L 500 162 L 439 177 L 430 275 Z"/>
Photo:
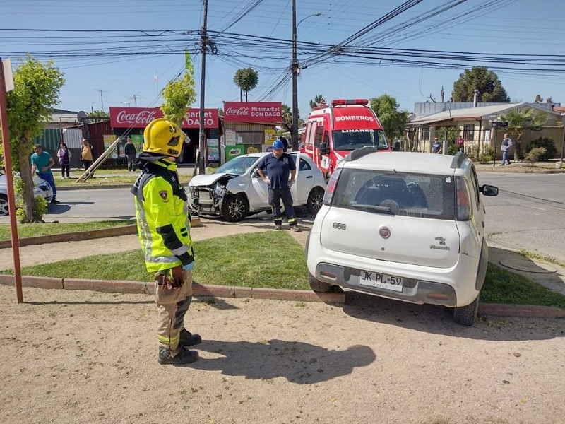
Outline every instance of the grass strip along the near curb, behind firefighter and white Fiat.
<path id="1" fill-rule="evenodd" d="M 194 281 L 197 283 L 309 290 L 304 249 L 286 232 L 268 231 L 203 240 L 194 243 L 194 251 Z M 145 271 L 141 249 L 95 255 L 88 260 L 66 259 L 52 264 L 26 266 L 22 274 L 153 281 L 153 275 Z M 565 296 L 493 264 L 489 264 L 487 269 L 481 302 L 565 308 Z"/>

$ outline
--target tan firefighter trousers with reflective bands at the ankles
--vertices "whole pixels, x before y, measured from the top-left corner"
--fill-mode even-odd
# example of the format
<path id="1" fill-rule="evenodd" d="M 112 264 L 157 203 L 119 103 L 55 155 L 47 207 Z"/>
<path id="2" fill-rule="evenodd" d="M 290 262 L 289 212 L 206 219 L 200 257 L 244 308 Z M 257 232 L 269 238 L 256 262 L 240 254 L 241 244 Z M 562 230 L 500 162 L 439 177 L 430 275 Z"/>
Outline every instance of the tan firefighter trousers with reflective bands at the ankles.
<path id="1" fill-rule="evenodd" d="M 159 326 L 157 338 L 159 346 L 176 355 L 179 336 L 184 328 L 184 315 L 192 300 L 192 271 L 183 270 L 184 284 L 174 290 L 167 290 L 155 281 L 155 303 Z"/>

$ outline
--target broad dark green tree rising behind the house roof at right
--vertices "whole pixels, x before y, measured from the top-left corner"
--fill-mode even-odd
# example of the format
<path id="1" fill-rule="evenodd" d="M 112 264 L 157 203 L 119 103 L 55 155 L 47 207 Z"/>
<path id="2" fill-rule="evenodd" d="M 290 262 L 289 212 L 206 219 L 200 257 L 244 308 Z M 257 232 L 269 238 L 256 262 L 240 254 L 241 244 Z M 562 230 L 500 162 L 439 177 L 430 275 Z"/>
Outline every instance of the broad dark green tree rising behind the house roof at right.
<path id="1" fill-rule="evenodd" d="M 510 102 L 496 73 L 486 66 L 473 66 L 460 73 L 459 79 L 453 83 L 451 100 L 453 102 L 472 102 L 475 90 L 479 90 L 480 102 Z"/>

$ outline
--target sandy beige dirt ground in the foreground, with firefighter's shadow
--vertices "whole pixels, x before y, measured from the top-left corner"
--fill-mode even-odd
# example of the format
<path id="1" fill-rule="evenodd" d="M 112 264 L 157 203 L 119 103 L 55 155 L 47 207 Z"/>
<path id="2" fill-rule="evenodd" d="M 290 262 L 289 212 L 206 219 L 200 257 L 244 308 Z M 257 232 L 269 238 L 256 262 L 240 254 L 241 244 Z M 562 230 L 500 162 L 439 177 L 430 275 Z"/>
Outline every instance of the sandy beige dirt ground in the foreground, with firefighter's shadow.
<path id="1" fill-rule="evenodd" d="M 1 423 L 563 423 L 565 322 L 350 293 L 196 300 L 201 359 L 157 364 L 148 295 L 0 286 Z"/>

